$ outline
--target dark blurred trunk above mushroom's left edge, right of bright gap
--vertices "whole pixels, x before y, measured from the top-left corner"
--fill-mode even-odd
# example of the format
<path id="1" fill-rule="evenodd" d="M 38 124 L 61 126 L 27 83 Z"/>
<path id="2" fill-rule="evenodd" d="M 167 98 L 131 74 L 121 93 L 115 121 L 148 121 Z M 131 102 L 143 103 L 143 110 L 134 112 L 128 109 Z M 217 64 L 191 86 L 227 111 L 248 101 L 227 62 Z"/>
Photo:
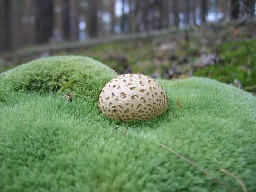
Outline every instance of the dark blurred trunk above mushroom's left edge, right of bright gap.
<path id="1" fill-rule="evenodd" d="M 89 37 L 98 36 L 97 0 L 88 0 L 88 33 Z"/>

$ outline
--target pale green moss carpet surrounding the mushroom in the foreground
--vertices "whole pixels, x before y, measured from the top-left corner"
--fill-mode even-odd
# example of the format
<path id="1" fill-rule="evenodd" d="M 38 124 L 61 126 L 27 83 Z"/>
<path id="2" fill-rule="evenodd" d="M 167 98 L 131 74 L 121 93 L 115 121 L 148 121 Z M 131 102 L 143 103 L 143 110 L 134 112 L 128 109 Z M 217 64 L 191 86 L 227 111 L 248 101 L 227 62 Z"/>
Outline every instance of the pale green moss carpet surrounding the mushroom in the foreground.
<path id="1" fill-rule="evenodd" d="M 64 66 L 66 61 L 75 65 L 76 58 L 81 61 L 66 74 L 79 74 L 78 65 L 88 74 L 101 67 L 102 74 L 112 71 L 84 57 L 33 61 L 27 71 L 33 67 L 38 71 L 51 62 L 48 72 L 54 76 L 58 71 L 54 64 L 63 58 Z M 85 67 L 85 61 L 94 67 Z M 124 124 L 106 118 L 97 102 L 88 99 L 93 95 L 81 93 L 69 102 L 56 95 L 58 89 L 38 92 L 20 87 L 19 91 L 12 89 L 15 84 L 3 81 L 9 75 L 14 81 L 24 68 L 0 75 L 1 86 L 12 90 L 0 103 L 0 191 L 230 191 L 156 140 L 234 188 L 241 190 L 219 168 L 242 179 L 248 191 L 256 190 L 256 98 L 252 94 L 207 78 L 159 80 L 169 99 L 167 113 L 150 122 Z M 101 83 L 101 74 L 98 79 Z M 59 87 L 65 83 L 60 81 Z M 89 83 L 97 81 L 88 78 Z"/>

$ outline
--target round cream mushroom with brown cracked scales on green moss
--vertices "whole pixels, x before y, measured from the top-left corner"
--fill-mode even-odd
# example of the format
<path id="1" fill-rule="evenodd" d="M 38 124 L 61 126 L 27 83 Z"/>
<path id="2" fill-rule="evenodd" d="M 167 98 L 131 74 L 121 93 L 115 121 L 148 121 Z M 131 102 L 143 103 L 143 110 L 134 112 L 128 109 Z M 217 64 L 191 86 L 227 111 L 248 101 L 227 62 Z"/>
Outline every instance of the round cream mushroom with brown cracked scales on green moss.
<path id="1" fill-rule="evenodd" d="M 163 87 L 143 74 L 123 74 L 102 89 L 99 108 L 108 118 L 121 122 L 149 120 L 168 108 Z"/>

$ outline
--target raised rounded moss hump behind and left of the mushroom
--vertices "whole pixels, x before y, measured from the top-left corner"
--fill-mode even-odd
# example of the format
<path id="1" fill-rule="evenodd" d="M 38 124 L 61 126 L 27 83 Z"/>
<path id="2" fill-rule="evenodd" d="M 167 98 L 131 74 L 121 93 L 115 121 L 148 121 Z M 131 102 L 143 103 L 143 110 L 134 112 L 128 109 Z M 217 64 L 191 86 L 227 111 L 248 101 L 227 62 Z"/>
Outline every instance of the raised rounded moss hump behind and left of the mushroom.
<path id="1" fill-rule="evenodd" d="M 0 75 L 0 99 L 10 92 L 72 92 L 97 100 L 102 87 L 116 76 L 99 61 L 80 56 L 55 56 L 20 65 Z"/>

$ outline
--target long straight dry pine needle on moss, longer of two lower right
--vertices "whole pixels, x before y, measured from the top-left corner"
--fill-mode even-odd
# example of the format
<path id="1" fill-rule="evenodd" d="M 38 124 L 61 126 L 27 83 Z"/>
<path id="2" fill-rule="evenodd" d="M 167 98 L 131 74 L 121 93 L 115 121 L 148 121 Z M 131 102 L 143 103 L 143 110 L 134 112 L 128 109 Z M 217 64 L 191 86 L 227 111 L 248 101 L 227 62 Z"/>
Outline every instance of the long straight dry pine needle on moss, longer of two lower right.
<path id="1" fill-rule="evenodd" d="M 229 184 L 221 181 L 221 179 L 216 178 L 215 176 L 213 176 L 212 174 L 210 174 L 208 171 L 204 170 L 203 168 L 201 168 L 200 166 L 198 166 L 197 164 L 195 164 L 193 161 L 190 161 L 189 159 L 187 159 L 186 157 L 182 156 L 181 154 L 177 153 L 176 151 L 172 150 L 171 148 L 168 148 L 167 146 L 165 146 L 164 144 L 159 143 L 158 141 L 156 141 L 157 144 L 161 145 L 163 148 L 166 148 L 168 151 L 172 152 L 173 154 L 177 155 L 178 157 L 180 157 L 181 159 L 183 159 L 184 161 L 186 161 L 187 163 L 189 163 L 190 165 L 196 167 L 198 170 L 201 170 L 205 175 L 208 175 L 209 177 L 211 177 L 212 179 L 216 180 L 218 183 L 221 183 L 222 185 L 224 185 L 227 188 L 230 188 L 232 191 L 234 192 L 238 192 L 238 190 L 236 190 L 235 188 L 231 187 Z M 246 192 L 246 191 L 244 191 Z"/>

